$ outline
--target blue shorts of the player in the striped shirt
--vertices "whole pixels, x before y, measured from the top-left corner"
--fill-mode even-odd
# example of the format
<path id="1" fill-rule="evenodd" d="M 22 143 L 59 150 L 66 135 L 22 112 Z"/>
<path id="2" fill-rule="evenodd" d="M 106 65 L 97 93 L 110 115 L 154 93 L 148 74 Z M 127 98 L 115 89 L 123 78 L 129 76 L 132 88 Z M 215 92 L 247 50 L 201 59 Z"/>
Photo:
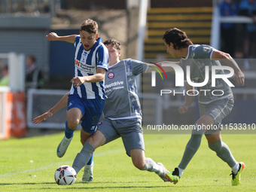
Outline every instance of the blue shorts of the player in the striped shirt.
<path id="1" fill-rule="evenodd" d="M 87 133 L 94 133 L 102 115 L 104 99 L 81 99 L 77 95 L 69 95 L 68 108 L 79 108 L 83 117 L 81 118 L 82 129 Z"/>

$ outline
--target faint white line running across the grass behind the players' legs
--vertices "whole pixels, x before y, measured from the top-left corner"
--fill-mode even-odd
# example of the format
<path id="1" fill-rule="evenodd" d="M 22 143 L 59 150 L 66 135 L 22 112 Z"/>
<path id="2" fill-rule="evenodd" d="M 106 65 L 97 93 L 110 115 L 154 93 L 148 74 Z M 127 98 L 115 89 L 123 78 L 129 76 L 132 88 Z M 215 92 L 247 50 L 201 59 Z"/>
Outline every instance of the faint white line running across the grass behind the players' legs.
<path id="1" fill-rule="evenodd" d="M 180 137 L 180 136 L 181 135 L 175 135 L 175 138 Z M 163 140 L 154 140 L 154 141 L 146 142 L 145 146 L 152 145 L 152 144 L 155 144 L 155 143 L 158 143 L 158 142 L 163 142 L 163 141 L 166 141 L 166 140 L 169 140 L 169 139 L 170 138 L 163 139 Z M 119 149 L 114 149 L 114 150 L 111 150 L 111 151 L 105 151 L 105 152 L 102 152 L 102 153 L 99 153 L 99 154 L 95 154 L 95 157 L 100 157 L 100 156 L 104 156 L 104 155 L 107 155 L 107 154 L 114 154 L 114 153 L 117 153 L 117 152 L 120 152 L 120 151 L 123 151 L 123 150 L 124 150 L 124 147 L 119 148 Z M 53 166 L 59 166 L 60 164 L 64 165 L 64 164 L 72 163 L 72 161 L 73 160 L 63 161 L 63 162 L 60 162 L 60 163 L 51 164 L 49 166 L 41 166 L 41 167 L 38 167 L 38 168 L 35 168 L 35 169 L 28 169 L 28 170 L 24 170 L 24 171 L 20 171 L 20 172 L 8 172 L 8 173 L 5 173 L 3 175 L 0 175 L 0 178 L 6 177 L 6 176 L 9 176 L 9 175 L 17 175 L 17 174 L 24 173 L 24 172 L 34 172 L 34 171 L 44 170 L 44 169 L 51 168 Z"/>

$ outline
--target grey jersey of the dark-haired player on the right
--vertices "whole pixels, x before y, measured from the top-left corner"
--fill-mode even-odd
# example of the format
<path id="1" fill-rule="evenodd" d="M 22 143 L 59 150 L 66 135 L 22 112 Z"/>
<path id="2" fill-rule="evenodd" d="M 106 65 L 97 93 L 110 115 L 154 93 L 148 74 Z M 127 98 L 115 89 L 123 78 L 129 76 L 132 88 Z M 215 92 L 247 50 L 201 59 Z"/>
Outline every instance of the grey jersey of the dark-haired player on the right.
<path id="1" fill-rule="evenodd" d="M 222 78 L 216 78 L 215 87 L 212 87 L 212 66 L 221 66 L 218 60 L 211 59 L 214 48 L 204 44 L 194 44 L 188 47 L 186 58 L 181 58 L 180 66 L 184 71 L 186 80 L 186 66 L 190 66 L 190 80 L 202 83 L 206 78 L 206 66 L 209 66 L 209 81 L 203 87 L 197 87 L 199 102 L 209 103 L 215 99 L 221 99 L 232 95 L 232 90 Z M 217 70 L 218 75 L 224 74 L 223 70 Z M 208 91 L 205 91 L 208 90 Z M 222 90 L 222 91 L 217 91 Z M 213 94 L 212 94 L 213 91 Z M 217 96 L 218 95 L 218 96 Z"/>

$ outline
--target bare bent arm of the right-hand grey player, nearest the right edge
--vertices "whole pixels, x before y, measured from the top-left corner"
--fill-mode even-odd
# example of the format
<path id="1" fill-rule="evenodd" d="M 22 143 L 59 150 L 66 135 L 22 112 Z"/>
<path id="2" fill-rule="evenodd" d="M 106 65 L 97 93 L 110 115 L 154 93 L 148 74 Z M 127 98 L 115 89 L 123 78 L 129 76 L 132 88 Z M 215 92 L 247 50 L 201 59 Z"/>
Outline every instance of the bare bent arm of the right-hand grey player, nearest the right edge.
<path id="1" fill-rule="evenodd" d="M 241 69 L 239 69 L 236 61 L 230 56 L 229 53 L 224 53 L 220 50 L 214 50 L 212 53 L 212 59 L 223 59 L 223 62 L 225 62 L 227 66 L 233 68 L 235 72 L 234 80 L 236 83 L 241 84 L 242 86 L 245 85 L 245 75 L 242 73 Z"/>

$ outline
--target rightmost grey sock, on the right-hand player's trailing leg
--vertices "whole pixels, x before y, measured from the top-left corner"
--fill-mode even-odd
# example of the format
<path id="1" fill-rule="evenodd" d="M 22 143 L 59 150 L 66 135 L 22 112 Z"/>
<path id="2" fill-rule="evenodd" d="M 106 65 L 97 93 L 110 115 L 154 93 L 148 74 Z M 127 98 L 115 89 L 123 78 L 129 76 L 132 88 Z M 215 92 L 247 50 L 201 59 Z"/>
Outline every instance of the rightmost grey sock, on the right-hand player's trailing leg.
<path id="1" fill-rule="evenodd" d="M 231 154 L 230 148 L 222 142 L 222 140 L 215 142 L 215 143 L 209 143 L 209 148 L 212 149 L 212 151 L 215 151 L 217 156 L 221 158 L 221 160 L 224 160 L 231 168 L 236 165 L 236 160 Z"/>

